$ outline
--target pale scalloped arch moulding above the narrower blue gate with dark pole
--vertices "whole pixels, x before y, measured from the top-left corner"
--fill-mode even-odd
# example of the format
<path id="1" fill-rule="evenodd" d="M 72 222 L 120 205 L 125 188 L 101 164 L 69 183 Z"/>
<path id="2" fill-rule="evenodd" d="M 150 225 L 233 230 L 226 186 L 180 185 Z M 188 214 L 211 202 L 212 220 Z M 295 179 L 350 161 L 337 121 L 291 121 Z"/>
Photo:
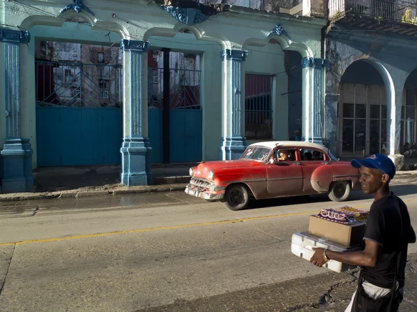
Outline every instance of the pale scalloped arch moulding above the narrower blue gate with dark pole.
<path id="1" fill-rule="evenodd" d="M 147 41 L 150 37 L 153 36 L 160 36 L 160 37 L 174 37 L 179 33 L 181 29 L 187 29 L 191 33 L 195 35 L 197 40 L 208 41 L 208 42 L 215 42 L 221 46 L 222 50 L 224 49 L 231 49 L 231 44 L 229 40 L 227 40 L 222 35 L 213 34 L 213 33 L 206 33 L 200 26 L 186 26 L 182 23 L 177 23 L 174 28 L 150 28 L 145 32 L 143 35 L 143 40 Z"/>

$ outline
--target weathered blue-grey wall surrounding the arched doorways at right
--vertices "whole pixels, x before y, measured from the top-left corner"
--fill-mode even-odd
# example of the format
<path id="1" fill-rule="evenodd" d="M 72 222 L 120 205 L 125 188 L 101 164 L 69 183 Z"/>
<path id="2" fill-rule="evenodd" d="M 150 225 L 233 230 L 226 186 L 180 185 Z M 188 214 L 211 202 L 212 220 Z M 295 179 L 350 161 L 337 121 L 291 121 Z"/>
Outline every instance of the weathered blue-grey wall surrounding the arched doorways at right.
<path id="1" fill-rule="evenodd" d="M 387 91 L 387 144 L 390 153 L 400 153 L 400 109 L 402 92 L 407 77 L 417 68 L 417 49 L 414 40 L 407 36 L 384 35 L 375 32 L 354 32 L 350 29 L 334 26 L 326 39 L 326 103 L 325 103 L 325 142 L 333 153 L 338 151 L 338 94 L 343 74 L 357 60 L 364 60 L 377 69 Z M 355 65 L 353 65 L 355 66 Z M 355 68 L 355 67 L 354 67 Z M 354 69 L 353 68 L 353 69 Z M 366 68 L 363 77 L 357 83 L 365 83 Z M 375 77 L 368 77 L 368 84 L 377 84 Z M 413 81 L 413 80 L 411 80 Z M 349 81 L 353 83 L 352 79 Z M 381 81 L 379 80 L 379 83 Z M 411 83 L 412 84 L 412 83 Z M 417 84 L 414 85 L 417 87 Z M 392 144 L 392 145 L 390 145 Z"/>

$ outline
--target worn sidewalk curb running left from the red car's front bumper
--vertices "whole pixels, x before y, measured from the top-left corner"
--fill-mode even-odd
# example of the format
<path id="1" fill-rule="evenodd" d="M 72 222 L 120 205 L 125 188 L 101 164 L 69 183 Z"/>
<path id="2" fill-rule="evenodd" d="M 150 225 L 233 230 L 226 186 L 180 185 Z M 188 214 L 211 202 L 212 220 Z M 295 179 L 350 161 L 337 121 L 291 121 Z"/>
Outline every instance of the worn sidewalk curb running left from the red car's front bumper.
<path id="1" fill-rule="evenodd" d="M 107 196 L 133 193 L 158 193 L 158 192 L 173 192 L 183 191 L 186 188 L 185 184 L 167 184 L 161 186 L 149 187 L 122 187 L 122 189 L 113 189 L 108 191 L 55 191 L 42 193 L 10 193 L 0 194 L 0 202 L 13 202 L 18 200 L 49 200 L 60 198 L 85 198 L 93 196 Z"/>

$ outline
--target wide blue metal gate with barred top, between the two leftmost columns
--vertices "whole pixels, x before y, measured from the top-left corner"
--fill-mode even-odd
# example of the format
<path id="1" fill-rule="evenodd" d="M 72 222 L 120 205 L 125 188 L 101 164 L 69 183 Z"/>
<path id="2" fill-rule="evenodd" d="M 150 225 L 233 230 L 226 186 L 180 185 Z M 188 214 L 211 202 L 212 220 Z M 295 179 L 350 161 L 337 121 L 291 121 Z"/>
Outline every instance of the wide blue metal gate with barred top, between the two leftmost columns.
<path id="1" fill-rule="evenodd" d="M 35 62 L 38 166 L 120 164 L 122 67 Z"/>

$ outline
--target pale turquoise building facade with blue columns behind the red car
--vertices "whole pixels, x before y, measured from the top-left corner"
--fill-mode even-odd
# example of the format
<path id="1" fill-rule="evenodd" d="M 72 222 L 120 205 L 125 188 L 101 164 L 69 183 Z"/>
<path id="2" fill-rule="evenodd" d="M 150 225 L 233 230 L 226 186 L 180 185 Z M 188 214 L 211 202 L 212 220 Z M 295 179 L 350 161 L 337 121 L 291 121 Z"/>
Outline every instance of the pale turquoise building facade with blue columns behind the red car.
<path id="1" fill-rule="evenodd" d="M 218 2 L 1 2 L 1 191 L 31 191 L 37 166 L 118 160 L 123 184 L 145 185 L 152 162 L 234 159 L 252 141 L 288 139 L 295 128 L 321 143 L 325 6 Z M 81 44 L 67 53 L 83 68 L 94 64 L 92 74 L 65 67 L 42 42 Z M 121 64 L 106 60 L 114 48 Z M 105 64 L 120 66 L 120 89 L 99 71 Z M 45 88 L 59 71 L 61 85 Z M 98 89 L 76 85 L 77 75 Z M 89 95 L 97 105 L 86 105 Z"/>

